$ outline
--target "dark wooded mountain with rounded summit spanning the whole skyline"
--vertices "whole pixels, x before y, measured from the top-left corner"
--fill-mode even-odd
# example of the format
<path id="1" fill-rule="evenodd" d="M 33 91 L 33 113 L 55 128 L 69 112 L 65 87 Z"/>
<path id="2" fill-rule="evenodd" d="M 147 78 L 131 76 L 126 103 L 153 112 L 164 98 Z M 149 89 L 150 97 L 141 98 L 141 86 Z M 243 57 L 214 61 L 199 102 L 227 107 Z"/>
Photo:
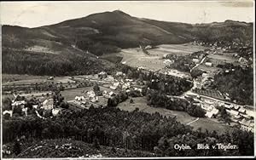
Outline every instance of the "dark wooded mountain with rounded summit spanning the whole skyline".
<path id="1" fill-rule="evenodd" d="M 62 68 L 67 68 L 67 71 L 61 71 L 61 74 L 78 70 L 85 73 L 90 72 L 88 70 L 91 70 L 91 64 L 95 64 L 94 69 L 101 65 L 102 68 L 98 70 L 113 69 L 112 63 L 98 59 L 96 55 L 110 54 L 139 45 L 188 43 L 194 40 L 214 42 L 238 39 L 241 42 L 253 42 L 253 23 L 226 20 L 192 25 L 140 19 L 119 10 L 90 14 L 83 18 L 36 28 L 3 26 L 2 31 L 3 60 L 6 60 L 6 63 L 3 63 L 3 72 L 30 71 L 32 74 L 42 74 L 41 69 L 31 71 L 32 69 L 25 66 L 20 67 L 24 61 L 18 60 L 17 57 L 20 59 L 26 55 L 26 64 L 30 65 L 35 64 L 35 60 L 38 60 L 38 63 L 49 63 L 50 60 L 48 66 L 39 63 L 44 67 L 44 73 L 48 73 L 49 67 L 55 66 L 55 63 L 61 63 Z M 84 59 L 85 62 L 81 61 Z M 15 62 L 9 65 L 10 60 Z M 34 65 L 31 67 L 34 68 Z M 56 73 L 55 70 L 53 74 Z"/>

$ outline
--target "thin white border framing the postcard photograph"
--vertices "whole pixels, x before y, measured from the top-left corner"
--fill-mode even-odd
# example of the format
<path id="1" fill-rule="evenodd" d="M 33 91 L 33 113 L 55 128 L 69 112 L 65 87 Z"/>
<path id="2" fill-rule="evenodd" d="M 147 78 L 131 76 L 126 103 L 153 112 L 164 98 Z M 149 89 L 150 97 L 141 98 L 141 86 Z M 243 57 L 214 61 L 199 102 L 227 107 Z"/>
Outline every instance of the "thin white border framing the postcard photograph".
<path id="1" fill-rule="evenodd" d="M 222 3 L 231 3 L 231 2 L 235 2 L 235 3 L 238 3 L 238 2 L 247 2 L 249 0 L 180 0 L 180 1 L 25 1 L 25 2 L 22 2 L 22 3 L 133 3 L 133 2 L 152 2 L 152 3 L 155 3 L 155 2 L 158 2 L 158 3 L 164 3 L 164 2 L 177 2 L 177 3 L 183 3 L 183 2 L 205 2 L 205 3 L 208 3 L 208 2 L 222 2 Z M 253 107 L 254 107 L 254 112 L 256 111 L 256 71 L 255 71 L 255 63 L 256 63 L 256 60 L 255 60 L 255 2 L 254 1 L 250 1 L 250 2 L 253 2 Z M 1 2 L 3 3 L 3 2 Z M 0 11 L 1 11 L 1 3 L 0 3 Z M 14 2 L 4 2 L 4 3 L 15 3 Z M 19 2 L 20 3 L 20 2 Z M 58 23 L 58 22 L 57 22 Z M 2 146 L 3 146 L 3 137 L 2 137 L 2 134 L 3 134 L 3 125 L 2 125 L 2 24 L 1 24 L 1 12 L 0 12 L 0 46 L 1 46 L 1 49 L 0 49 L 0 60 L 1 60 L 1 66 L 0 66 L 0 73 L 1 73 L 1 76 L 0 76 L 0 85 L 1 85 L 1 89 L 0 89 L 0 98 L 1 98 L 1 109 L 0 109 L 0 117 L 1 117 L 1 146 L 0 146 L 0 159 L 28 159 L 28 160 L 33 160 L 35 158 L 3 158 L 3 151 L 2 151 Z M 254 155 L 253 156 L 227 156 L 227 157 L 224 157 L 224 156 L 216 156 L 216 157 L 101 157 L 101 158 L 79 158 L 79 157 L 60 157 L 60 158 L 37 158 L 37 159 L 44 159 L 44 160 L 52 160 L 52 159 L 56 159 L 56 160 L 59 160 L 59 159 L 195 159 L 195 158 L 199 158 L 199 159 L 202 159 L 202 158 L 238 158 L 238 157 L 241 157 L 241 158 L 253 158 L 256 156 L 256 128 L 255 128 L 255 124 L 256 124 L 256 118 L 254 118 Z"/>

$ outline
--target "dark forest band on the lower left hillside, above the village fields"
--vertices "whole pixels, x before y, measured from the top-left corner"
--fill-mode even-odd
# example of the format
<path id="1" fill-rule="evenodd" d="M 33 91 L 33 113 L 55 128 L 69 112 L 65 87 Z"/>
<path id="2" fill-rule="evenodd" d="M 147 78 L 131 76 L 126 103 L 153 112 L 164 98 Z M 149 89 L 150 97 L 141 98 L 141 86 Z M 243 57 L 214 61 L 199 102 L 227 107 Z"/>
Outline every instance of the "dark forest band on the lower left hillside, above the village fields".
<path id="1" fill-rule="evenodd" d="M 11 74 L 53 76 L 94 74 L 100 71 L 112 71 L 114 67 L 106 60 L 103 62 L 90 55 L 79 54 L 67 57 L 62 54 L 32 54 L 21 50 L 4 49 L 2 58 L 3 72 Z"/>

